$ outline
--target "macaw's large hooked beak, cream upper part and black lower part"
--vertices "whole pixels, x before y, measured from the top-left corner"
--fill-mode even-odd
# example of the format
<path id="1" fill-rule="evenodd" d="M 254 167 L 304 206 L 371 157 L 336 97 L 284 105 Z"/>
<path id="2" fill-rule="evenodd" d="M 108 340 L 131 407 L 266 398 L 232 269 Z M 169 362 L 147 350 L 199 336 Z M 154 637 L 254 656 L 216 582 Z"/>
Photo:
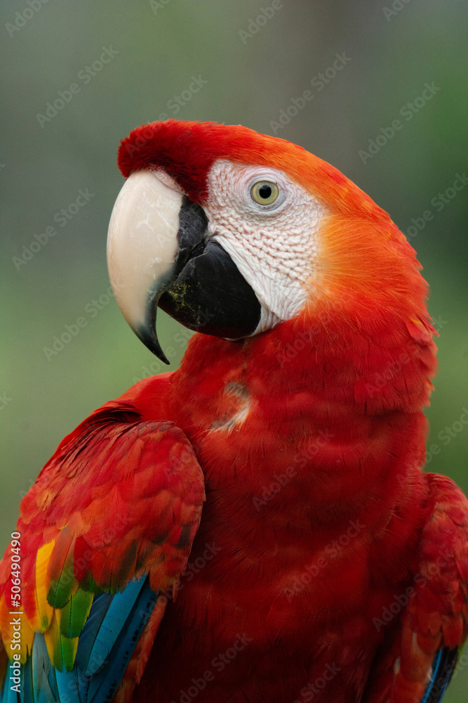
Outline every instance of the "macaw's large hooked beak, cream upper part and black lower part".
<path id="1" fill-rule="evenodd" d="M 109 222 L 107 266 L 124 318 L 166 363 L 156 335 L 158 306 L 189 329 L 227 339 L 253 334 L 260 322 L 255 293 L 210 240 L 201 206 L 150 170 L 123 184 Z"/>

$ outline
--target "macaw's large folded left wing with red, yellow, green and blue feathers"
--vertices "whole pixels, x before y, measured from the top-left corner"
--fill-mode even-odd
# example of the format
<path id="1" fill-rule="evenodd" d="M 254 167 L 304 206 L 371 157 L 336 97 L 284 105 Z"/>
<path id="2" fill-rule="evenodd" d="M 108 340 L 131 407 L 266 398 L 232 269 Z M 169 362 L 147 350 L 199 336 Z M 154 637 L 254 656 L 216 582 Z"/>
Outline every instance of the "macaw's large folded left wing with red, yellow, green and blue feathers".
<path id="1" fill-rule="evenodd" d="M 110 700 L 127 667 L 128 693 L 203 500 L 203 473 L 173 423 L 113 401 L 69 434 L 23 498 L 0 564 L 0 702 Z"/>

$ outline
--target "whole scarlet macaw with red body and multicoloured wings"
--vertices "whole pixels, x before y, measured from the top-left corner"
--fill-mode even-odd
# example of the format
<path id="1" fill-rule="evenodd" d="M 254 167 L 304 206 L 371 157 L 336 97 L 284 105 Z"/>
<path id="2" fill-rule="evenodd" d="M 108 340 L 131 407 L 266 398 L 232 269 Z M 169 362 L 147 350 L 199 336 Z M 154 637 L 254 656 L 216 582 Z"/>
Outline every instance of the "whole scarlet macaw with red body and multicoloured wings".
<path id="1" fill-rule="evenodd" d="M 241 125 L 143 124 L 118 165 L 116 302 L 161 361 L 158 309 L 189 343 L 22 498 L 0 703 L 439 703 L 468 501 L 423 470 L 415 250 L 335 167 Z"/>

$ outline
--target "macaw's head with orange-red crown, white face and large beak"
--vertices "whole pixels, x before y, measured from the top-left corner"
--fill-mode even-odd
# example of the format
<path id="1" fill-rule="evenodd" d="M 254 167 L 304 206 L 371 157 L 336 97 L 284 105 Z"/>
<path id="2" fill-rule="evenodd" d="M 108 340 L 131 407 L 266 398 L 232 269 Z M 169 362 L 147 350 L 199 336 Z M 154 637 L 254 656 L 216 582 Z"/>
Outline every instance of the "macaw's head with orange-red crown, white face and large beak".
<path id="1" fill-rule="evenodd" d="M 253 337 L 295 318 L 427 328 L 415 252 L 386 212 L 300 146 L 241 126 L 154 122 L 119 148 L 126 183 L 108 264 L 131 328 L 166 361 L 161 307 L 192 330 Z"/>

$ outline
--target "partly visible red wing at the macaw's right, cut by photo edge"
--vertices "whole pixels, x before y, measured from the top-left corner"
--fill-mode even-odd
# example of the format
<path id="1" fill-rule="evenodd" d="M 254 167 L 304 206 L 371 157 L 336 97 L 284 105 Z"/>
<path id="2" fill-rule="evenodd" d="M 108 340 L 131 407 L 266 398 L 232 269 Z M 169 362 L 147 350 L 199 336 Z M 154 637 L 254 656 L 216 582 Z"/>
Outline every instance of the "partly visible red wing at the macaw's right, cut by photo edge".
<path id="1" fill-rule="evenodd" d="M 468 635 L 468 501 L 427 474 L 429 504 L 401 624 L 378 654 L 366 703 L 440 703 Z M 401 602 L 401 601 L 400 601 Z"/>

